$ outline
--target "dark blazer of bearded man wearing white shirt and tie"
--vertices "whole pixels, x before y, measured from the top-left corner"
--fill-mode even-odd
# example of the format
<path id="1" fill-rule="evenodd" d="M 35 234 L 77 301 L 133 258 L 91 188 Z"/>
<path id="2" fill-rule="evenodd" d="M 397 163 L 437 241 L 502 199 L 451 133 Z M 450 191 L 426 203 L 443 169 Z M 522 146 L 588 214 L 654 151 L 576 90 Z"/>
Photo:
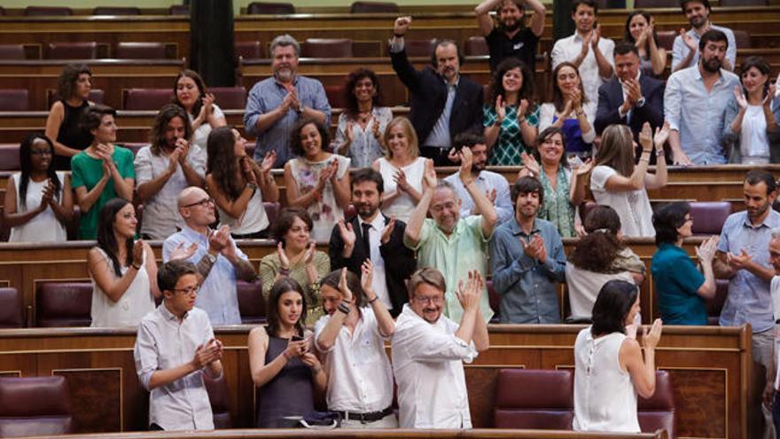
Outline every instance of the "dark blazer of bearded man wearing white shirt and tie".
<path id="1" fill-rule="evenodd" d="M 389 222 L 390 218 L 385 216 L 385 224 Z M 363 264 L 363 261 L 370 257 L 370 252 L 363 245 L 363 229 L 357 216 L 349 220 L 349 223 L 352 224 L 352 229 L 355 231 L 355 248 L 352 250 L 352 256 L 344 258 L 341 255 L 341 250 L 344 248 L 344 239 L 341 239 L 339 224 L 336 224 L 333 227 L 333 231 L 331 231 L 331 241 L 328 245 L 328 255 L 331 256 L 331 270 L 347 267 L 347 270 L 360 277 L 360 266 Z M 414 252 L 403 245 L 404 231 L 406 231 L 406 223 L 395 220 L 395 227 L 390 234 L 390 239 L 386 244 L 379 246 L 379 254 L 382 255 L 382 259 L 385 261 L 385 279 L 387 293 L 390 295 L 390 302 L 393 303 L 393 310 L 390 311 L 393 317 L 398 316 L 401 313 L 403 304 L 409 302 L 406 280 L 417 269 Z"/>

